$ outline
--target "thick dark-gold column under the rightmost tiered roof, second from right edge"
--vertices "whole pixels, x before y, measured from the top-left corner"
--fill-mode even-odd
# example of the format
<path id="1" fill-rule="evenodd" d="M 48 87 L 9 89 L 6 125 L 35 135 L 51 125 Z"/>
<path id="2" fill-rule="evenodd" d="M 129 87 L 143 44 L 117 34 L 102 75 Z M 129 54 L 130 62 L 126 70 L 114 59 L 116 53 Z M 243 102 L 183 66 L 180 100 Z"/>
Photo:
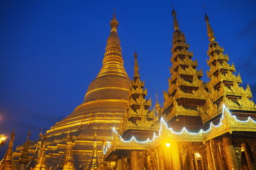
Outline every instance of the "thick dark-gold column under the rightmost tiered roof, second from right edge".
<path id="1" fill-rule="evenodd" d="M 235 148 L 232 144 L 232 139 L 230 136 L 225 136 L 222 138 L 223 146 L 224 146 L 224 152 L 226 156 L 226 164 L 228 169 L 239 169 L 238 160 L 236 157 Z"/>

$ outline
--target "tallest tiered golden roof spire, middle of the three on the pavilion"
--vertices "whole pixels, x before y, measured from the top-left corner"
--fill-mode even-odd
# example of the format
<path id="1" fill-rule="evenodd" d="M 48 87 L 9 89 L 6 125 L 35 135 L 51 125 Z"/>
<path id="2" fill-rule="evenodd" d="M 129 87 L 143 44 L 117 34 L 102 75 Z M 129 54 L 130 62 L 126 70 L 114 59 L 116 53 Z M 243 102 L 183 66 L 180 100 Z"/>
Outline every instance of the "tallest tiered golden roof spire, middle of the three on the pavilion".
<path id="1" fill-rule="evenodd" d="M 198 107 L 205 104 L 205 93 L 202 70 L 197 71 L 197 61 L 192 60 L 193 53 L 189 52 L 184 33 L 179 29 L 177 13 L 173 15 L 173 46 L 172 46 L 172 74 L 169 81 L 168 92 L 164 92 L 164 107 L 161 109 L 162 117 L 172 124 L 172 128 L 180 131 L 187 127 L 197 131 L 202 127 L 202 120 Z"/>

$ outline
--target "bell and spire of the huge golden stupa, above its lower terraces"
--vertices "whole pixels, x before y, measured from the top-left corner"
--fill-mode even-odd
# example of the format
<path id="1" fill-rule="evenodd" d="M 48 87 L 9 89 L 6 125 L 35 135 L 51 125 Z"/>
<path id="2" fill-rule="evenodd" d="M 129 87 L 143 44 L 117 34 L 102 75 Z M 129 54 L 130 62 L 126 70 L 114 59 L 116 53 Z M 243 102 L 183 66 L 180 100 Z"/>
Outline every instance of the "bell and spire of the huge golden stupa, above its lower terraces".
<path id="1" fill-rule="evenodd" d="M 90 134 L 95 127 L 109 129 L 120 124 L 124 116 L 125 104 L 127 104 L 130 79 L 124 69 L 115 14 L 110 25 L 111 32 L 102 69 L 90 83 L 83 104 L 77 106 L 68 117 L 52 126 L 47 131 L 47 136 L 78 130 L 82 130 L 82 134 Z M 94 130 L 92 135 L 93 133 Z"/>

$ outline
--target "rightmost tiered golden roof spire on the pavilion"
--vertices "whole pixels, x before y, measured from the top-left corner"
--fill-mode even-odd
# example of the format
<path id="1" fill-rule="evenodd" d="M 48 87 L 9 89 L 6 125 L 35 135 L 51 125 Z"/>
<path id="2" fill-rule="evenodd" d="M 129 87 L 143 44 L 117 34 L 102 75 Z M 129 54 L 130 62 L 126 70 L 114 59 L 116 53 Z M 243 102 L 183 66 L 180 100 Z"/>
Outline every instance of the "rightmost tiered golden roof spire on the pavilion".
<path id="1" fill-rule="evenodd" d="M 209 50 L 207 55 L 207 65 L 210 67 L 207 76 L 210 81 L 207 82 L 209 89 L 209 99 L 207 99 L 205 108 L 206 113 L 202 115 L 203 122 L 218 118 L 221 114 L 222 106 L 228 107 L 235 113 L 245 113 L 246 110 L 256 111 L 255 103 L 252 100 L 250 87 L 246 89 L 239 86 L 242 83 L 240 74 L 236 76 L 234 64 L 228 64 L 227 54 L 223 54 L 224 49 L 218 45 L 215 40 L 214 32 L 209 24 L 209 17 L 205 13 L 205 22 L 207 26 L 207 36 L 209 36 Z M 235 111 L 236 110 L 236 111 Z"/>

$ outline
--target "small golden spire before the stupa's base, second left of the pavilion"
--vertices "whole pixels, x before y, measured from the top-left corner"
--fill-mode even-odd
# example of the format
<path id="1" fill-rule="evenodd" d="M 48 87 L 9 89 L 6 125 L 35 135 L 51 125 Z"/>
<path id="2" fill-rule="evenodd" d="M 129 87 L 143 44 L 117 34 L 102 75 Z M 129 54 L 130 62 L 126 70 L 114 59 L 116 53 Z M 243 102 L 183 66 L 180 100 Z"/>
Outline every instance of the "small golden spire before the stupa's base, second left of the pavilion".
<path id="1" fill-rule="evenodd" d="M 72 152 L 72 136 L 70 136 L 69 133 L 67 135 L 65 159 L 63 162 L 64 162 L 63 170 L 74 169 L 74 157 Z"/>

